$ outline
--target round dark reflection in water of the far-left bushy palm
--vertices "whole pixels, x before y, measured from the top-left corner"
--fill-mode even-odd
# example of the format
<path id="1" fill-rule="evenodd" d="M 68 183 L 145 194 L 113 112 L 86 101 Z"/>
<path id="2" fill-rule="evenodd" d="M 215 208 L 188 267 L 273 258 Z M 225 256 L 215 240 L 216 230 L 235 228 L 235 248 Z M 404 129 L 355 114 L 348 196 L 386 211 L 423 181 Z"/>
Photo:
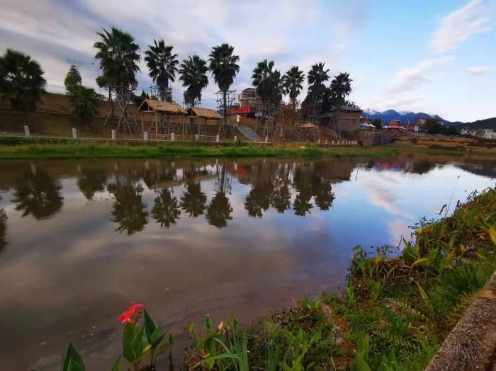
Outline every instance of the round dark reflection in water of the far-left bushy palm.
<path id="1" fill-rule="evenodd" d="M 13 193 L 12 202 L 17 204 L 16 210 L 23 210 L 23 217 L 33 215 L 36 219 L 45 219 L 62 208 L 61 188 L 43 171 L 26 173 Z"/>

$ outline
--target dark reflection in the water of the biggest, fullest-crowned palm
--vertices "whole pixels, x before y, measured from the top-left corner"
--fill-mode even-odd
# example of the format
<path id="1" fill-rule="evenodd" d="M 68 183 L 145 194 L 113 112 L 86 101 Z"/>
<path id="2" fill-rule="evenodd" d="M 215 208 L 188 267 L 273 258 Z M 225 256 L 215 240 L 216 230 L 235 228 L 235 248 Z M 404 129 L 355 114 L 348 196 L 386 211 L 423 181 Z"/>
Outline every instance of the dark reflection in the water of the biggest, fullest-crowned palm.
<path id="1" fill-rule="evenodd" d="M 112 221 L 119 224 L 119 232 L 140 232 L 148 223 L 147 205 L 142 202 L 141 186 L 130 182 L 111 184 L 108 191 L 115 196 Z"/>

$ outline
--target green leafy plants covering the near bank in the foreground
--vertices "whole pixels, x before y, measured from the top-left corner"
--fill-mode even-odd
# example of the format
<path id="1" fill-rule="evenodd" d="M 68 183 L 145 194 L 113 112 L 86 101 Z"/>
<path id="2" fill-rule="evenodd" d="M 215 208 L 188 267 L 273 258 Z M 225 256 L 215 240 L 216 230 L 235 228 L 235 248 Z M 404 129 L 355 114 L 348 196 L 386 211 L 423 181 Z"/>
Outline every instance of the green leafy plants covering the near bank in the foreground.
<path id="1" fill-rule="evenodd" d="M 190 324 L 193 345 L 184 364 L 219 371 L 423 370 L 496 269 L 496 188 L 473 193 L 451 217 L 422 221 L 415 234 L 400 256 L 387 247 L 369 255 L 357 246 L 339 297 L 303 297 L 247 329 L 233 316 L 213 326 L 206 315 L 198 331 Z M 159 348 L 164 332 L 147 328 L 151 317 L 144 314 L 142 328 L 139 314 L 125 316 L 131 322 L 123 356 L 135 370 L 149 370 L 139 368 L 145 355 L 152 355 L 147 367 L 153 367 L 156 355 L 173 343 Z M 83 364 L 72 346 L 66 364 Z M 115 367 L 119 363 L 113 370 L 120 370 Z"/>

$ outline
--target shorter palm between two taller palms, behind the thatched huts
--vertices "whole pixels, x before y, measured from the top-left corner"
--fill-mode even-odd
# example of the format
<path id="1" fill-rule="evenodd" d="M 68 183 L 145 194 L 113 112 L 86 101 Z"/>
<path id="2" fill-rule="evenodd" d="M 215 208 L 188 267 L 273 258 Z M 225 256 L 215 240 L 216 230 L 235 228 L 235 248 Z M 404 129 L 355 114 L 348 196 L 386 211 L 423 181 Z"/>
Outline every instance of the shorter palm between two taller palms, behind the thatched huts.
<path id="1" fill-rule="evenodd" d="M 183 81 L 183 86 L 186 87 L 184 92 L 186 103 L 193 105 L 195 99 L 201 101 L 201 91 L 208 85 L 207 71 L 207 62 L 198 55 L 193 57 L 190 55 L 181 63 L 179 80 Z"/>

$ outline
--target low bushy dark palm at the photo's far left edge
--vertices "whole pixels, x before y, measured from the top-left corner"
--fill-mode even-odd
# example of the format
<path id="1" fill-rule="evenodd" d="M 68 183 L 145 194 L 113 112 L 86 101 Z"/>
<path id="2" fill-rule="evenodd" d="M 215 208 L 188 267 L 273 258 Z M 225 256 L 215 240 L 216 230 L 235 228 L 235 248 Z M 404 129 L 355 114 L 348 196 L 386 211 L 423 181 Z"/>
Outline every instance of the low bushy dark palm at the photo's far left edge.
<path id="1" fill-rule="evenodd" d="M 43 69 L 29 55 L 7 49 L 0 57 L 0 92 L 15 110 L 35 110 L 47 81 Z"/>

